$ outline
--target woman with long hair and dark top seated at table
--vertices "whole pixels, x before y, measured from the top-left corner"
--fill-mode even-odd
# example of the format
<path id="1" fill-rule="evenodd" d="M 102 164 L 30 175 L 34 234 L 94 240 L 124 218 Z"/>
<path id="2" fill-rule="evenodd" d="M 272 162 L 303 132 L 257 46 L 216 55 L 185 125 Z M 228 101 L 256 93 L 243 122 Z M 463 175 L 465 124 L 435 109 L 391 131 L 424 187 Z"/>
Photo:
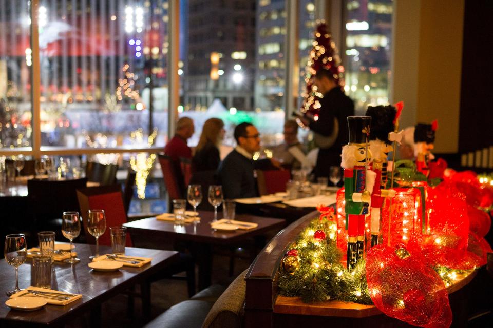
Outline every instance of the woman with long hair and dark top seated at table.
<path id="1" fill-rule="evenodd" d="M 194 172 L 215 171 L 221 161 L 219 146 L 224 137 L 224 123 L 220 118 L 205 121 L 199 143 L 192 159 Z"/>

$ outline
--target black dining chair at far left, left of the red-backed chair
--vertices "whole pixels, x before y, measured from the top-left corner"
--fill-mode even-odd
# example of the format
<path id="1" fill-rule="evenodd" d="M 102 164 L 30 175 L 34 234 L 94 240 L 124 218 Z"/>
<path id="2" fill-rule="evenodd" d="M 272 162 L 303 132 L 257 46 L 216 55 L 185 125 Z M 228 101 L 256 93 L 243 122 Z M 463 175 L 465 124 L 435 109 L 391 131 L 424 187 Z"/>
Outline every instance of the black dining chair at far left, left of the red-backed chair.
<path id="1" fill-rule="evenodd" d="M 33 232 L 52 230 L 57 232 L 56 240 L 64 240 L 60 232 L 62 229 L 62 213 L 66 211 L 80 211 L 76 190 L 85 188 L 86 184 L 86 178 L 28 180 L 28 198 L 34 216 Z"/>

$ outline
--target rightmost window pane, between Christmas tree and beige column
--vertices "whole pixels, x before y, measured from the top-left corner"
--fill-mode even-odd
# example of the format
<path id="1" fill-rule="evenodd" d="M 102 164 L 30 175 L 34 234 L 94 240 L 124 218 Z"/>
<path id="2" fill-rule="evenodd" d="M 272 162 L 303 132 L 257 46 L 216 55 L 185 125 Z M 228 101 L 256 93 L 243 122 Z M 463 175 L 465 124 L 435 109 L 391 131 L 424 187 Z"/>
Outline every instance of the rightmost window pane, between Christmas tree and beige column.
<path id="1" fill-rule="evenodd" d="M 357 111 L 389 101 L 392 0 L 344 1 L 345 91 Z"/>

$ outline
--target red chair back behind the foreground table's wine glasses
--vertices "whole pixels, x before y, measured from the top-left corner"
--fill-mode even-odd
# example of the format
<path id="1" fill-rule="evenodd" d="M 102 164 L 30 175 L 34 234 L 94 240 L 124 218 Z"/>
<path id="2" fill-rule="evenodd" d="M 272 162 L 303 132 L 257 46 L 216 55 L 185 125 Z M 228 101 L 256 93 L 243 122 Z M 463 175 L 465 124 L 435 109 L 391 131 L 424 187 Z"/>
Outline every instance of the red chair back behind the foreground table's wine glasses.
<path id="1" fill-rule="evenodd" d="M 86 239 L 90 243 L 96 243 L 93 236 L 87 231 L 87 212 L 89 210 L 104 210 L 106 216 L 106 231 L 99 237 L 99 244 L 111 245 L 109 228 L 121 226 L 127 222 L 127 214 L 123 203 L 122 189 L 120 185 L 85 188 L 77 191 L 77 198 L 81 207 L 81 216 L 84 223 Z M 131 247 L 130 234 L 127 233 L 126 245 Z"/>

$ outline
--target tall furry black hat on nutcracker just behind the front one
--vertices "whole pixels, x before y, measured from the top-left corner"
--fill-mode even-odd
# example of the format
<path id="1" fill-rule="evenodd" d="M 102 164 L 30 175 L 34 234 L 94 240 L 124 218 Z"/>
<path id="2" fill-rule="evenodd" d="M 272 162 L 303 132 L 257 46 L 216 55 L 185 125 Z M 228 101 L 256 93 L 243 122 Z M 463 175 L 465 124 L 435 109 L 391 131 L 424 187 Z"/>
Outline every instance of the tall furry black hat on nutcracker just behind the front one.
<path id="1" fill-rule="evenodd" d="M 379 139 L 387 144 L 392 141 L 388 139 L 389 133 L 394 131 L 394 118 L 397 110 L 392 105 L 368 106 L 365 115 L 371 116 L 371 130 L 369 140 Z"/>

